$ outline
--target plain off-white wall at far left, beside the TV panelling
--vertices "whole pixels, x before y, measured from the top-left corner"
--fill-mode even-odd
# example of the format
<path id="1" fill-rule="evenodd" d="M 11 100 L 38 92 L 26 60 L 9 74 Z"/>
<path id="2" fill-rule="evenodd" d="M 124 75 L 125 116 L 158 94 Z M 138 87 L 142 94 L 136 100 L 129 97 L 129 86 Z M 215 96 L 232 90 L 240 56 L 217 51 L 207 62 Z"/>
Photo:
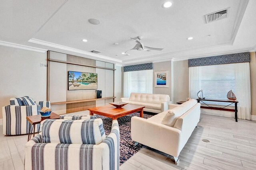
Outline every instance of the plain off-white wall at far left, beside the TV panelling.
<path id="1" fill-rule="evenodd" d="M 0 107 L 10 105 L 10 98 L 30 96 L 46 100 L 46 53 L 0 46 Z M 0 109 L 2 119 L 2 109 Z"/>

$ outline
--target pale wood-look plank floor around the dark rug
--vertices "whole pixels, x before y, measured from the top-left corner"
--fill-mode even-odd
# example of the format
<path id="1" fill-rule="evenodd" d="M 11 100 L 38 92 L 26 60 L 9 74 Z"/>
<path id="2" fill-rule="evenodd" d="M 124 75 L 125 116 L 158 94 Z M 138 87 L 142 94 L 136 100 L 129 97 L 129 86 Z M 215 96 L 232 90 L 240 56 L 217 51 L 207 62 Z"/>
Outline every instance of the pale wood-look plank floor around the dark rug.
<path id="1" fill-rule="evenodd" d="M 204 143 L 208 139 L 210 143 Z M 0 125 L 0 170 L 23 170 L 27 135 L 2 135 Z M 171 147 L 171 146 L 170 146 Z M 200 123 L 180 153 L 178 165 L 172 156 L 143 148 L 121 170 L 256 169 L 256 121 L 201 114 Z"/>

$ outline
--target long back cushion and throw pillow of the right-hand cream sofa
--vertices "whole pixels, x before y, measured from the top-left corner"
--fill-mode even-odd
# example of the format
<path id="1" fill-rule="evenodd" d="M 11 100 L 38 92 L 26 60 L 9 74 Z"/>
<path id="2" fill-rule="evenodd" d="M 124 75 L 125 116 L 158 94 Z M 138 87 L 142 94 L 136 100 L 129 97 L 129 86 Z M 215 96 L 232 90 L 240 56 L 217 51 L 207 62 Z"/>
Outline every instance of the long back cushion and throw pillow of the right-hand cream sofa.
<path id="1" fill-rule="evenodd" d="M 196 104 L 197 101 L 192 99 L 181 104 L 180 106 L 170 109 L 170 111 L 168 111 L 164 118 L 162 119 L 161 123 L 170 127 L 174 127 L 174 124 L 176 123 L 177 119 Z"/>

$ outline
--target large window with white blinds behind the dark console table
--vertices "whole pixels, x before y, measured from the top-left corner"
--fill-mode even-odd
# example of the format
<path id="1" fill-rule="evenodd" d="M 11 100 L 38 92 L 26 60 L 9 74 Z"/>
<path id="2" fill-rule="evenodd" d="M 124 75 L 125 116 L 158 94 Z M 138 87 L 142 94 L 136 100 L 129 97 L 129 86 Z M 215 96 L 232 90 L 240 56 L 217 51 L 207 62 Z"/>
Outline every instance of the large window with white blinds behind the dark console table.
<path id="1" fill-rule="evenodd" d="M 234 64 L 220 64 L 210 66 L 190 67 L 190 79 L 194 84 L 194 89 L 190 89 L 192 98 L 197 98 L 199 90 L 203 90 L 204 96 L 208 99 L 227 100 L 228 91 L 232 90 L 236 94 L 236 81 Z M 197 76 L 193 76 L 197 74 Z M 223 104 L 223 102 L 205 102 L 207 104 Z M 232 104 L 234 105 L 234 104 Z"/>

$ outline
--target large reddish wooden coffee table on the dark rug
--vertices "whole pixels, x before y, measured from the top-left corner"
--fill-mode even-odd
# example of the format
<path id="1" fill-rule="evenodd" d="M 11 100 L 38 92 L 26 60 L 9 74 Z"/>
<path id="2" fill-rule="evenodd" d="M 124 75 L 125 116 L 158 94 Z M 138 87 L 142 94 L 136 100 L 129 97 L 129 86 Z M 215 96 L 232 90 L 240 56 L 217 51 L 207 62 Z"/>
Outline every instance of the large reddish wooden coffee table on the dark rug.
<path id="1" fill-rule="evenodd" d="M 90 110 L 90 115 L 94 115 L 94 114 L 102 115 L 114 120 L 114 119 L 117 119 L 118 117 L 123 117 L 135 112 L 139 112 L 140 117 L 143 117 L 143 108 L 144 106 L 127 104 L 121 108 L 116 108 L 114 106 L 108 105 L 108 106 L 94 107 L 88 110 Z"/>

